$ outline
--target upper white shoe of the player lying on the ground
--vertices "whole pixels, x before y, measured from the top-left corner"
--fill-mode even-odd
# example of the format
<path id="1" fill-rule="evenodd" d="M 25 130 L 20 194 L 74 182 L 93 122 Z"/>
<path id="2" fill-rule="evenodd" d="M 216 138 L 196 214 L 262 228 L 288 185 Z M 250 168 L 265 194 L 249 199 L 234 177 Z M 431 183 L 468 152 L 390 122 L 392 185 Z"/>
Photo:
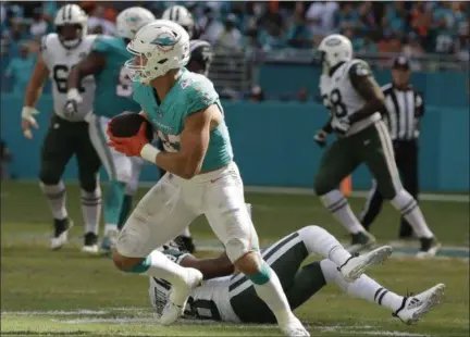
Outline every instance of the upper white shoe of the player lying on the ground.
<path id="1" fill-rule="evenodd" d="M 383 246 L 368 253 L 349 258 L 338 271 L 342 272 L 346 282 L 358 279 L 370 266 L 383 263 L 393 252 L 391 246 Z"/>

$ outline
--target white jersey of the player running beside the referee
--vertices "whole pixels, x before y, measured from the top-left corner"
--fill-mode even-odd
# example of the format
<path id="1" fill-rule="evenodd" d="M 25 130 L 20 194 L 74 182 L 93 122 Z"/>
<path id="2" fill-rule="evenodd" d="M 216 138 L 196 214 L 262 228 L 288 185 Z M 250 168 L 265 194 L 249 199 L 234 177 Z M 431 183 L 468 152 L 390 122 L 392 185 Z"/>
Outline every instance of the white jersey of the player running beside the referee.
<path id="1" fill-rule="evenodd" d="M 366 104 L 366 100 L 356 91 L 350 80 L 350 74 L 356 76 L 372 76 L 372 72 L 362 60 L 351 60 L 341 65 L 332 76 L 322 75 L 320 91 L 323 105 L 330 110 L 332 126 L 342 120 L 348 120 L 356 111 Z M 346 136 L 357 134 L 381 118 L 378 111 L 371 116 L 351 125 Z"/>

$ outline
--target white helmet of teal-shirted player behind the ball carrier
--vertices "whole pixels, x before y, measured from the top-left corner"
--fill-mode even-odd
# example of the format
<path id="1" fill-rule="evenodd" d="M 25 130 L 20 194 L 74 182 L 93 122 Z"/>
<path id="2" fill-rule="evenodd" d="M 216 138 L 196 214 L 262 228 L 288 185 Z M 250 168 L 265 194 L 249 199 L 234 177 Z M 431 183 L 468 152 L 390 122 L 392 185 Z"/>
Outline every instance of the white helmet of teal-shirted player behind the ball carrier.
<path id="1" fill-rule="evenodd" d="M 132 7 L 119 13 L 116 17 L 116 34 L 132 40 L 136 33 L 146 24 L 156 21 L 154 15 L 141 7 Z"/>

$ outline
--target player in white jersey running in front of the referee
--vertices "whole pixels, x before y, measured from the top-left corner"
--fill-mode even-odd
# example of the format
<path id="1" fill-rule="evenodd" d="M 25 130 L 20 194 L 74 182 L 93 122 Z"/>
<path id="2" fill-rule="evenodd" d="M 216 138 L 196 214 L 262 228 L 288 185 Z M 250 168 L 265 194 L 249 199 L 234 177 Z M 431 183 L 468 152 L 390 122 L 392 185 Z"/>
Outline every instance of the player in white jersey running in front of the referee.
<path id="1" fill-rule="evenodd" d="M 321 146 L 332 130 L 337 139 L 326 148 L 314 177 L 314 190 L 324 207 L 352 236 L 351 251 L 372 246 L 375 239 L 354 215 L 339 183 L 364 163 L 385 199 L 410 223 L 421 241 L 419 257 L 434 255 L 440 244 L 428 227 L 418 202 L 400 182 L 388 129 L 382 121 L 385 100 L 369 65 L 352 59 L 350 40 L 338 34 L 325 37 L 319 51 L 324 74 L 320 80 L 330 121 L 316 140 Z"/>

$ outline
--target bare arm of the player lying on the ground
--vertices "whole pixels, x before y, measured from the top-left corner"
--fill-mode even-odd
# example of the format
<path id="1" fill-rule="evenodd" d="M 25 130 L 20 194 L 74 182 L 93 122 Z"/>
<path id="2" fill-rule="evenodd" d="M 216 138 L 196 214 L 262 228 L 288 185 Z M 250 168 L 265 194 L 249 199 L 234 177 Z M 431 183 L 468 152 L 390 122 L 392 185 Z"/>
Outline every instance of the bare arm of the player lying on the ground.
<path id="1" fill-rule="evenodd" d="M 214 259 L 197 259 L 188 254 L 183 259 L 181 265 L 198 270 L 205 279 L 232 275 L 235 270 L 225 252 Z"/>

